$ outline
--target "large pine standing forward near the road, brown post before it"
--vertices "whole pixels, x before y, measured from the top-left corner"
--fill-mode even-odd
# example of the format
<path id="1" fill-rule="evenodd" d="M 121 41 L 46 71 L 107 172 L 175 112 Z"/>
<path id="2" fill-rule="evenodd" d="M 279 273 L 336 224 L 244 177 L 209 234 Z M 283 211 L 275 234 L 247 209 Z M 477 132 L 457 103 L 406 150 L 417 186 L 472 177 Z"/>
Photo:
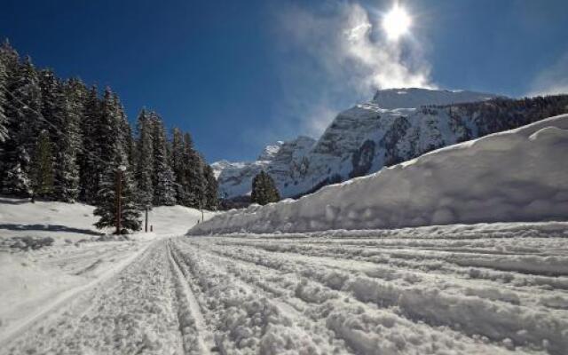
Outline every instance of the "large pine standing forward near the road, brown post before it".
<path id="1" fill-rule="evenodd" d="M 99 135 L 99 193 L 96 199 L 95 224 L 104 228 L 115 224 L 116 185 L 121 178 L 121 224 L 124 230 L 138 231 L 141 228 L 136 184 L 131 177 L 128 154 L 125 149 L 123 124 L 126 120 L 118 100 L 110 88 L 106 88 L 100 105 L 100 120 L 96 131 Z M 124 170 L 122 170 L 123 168 Z M 117 173 L 122 170 L 122 172 Z M 121 231 L 122 233 L 122 231 Z"/>

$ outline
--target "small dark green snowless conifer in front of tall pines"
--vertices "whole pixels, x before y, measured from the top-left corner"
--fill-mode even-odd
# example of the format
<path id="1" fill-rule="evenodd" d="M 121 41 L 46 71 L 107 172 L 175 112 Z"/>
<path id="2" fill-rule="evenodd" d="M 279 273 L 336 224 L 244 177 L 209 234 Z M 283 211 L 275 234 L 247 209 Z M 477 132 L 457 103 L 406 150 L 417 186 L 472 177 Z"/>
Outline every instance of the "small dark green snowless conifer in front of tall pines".
<path id="1" fill-rule="evenodd" d="M 50 134 L 42 130 L 37 138 L 36 150 L 31 167 L 33 194 L 50 197 L 53 192 L 53 152 Z"/>

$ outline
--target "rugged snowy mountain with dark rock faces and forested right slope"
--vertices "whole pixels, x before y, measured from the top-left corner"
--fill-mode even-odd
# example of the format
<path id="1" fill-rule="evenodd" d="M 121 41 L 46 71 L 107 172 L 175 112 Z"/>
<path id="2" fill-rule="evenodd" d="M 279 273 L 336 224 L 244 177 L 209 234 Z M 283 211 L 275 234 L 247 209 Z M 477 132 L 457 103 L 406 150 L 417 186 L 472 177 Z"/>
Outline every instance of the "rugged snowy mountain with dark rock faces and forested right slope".
<path id="1" fill-rule="evenodd" d="M 442 146 L 565 112 L 565 107 L 556 109 L 548 102 L 496 98 L 473 91 L 377 91 L 370 102 L 338 114 L 317 142 L 300 137 L 268 146 L 255 162 L 214 163 L 221 197 L 248 194 L 260 170 L 275 179 L 283 197 L 294 197 Z"/>

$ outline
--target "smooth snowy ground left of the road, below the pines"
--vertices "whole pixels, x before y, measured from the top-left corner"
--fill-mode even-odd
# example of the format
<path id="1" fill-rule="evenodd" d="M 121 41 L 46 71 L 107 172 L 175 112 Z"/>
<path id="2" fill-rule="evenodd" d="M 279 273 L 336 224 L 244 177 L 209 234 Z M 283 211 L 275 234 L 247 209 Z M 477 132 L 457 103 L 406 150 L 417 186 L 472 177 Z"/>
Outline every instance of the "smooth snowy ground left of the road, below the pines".
<path id="1" fill-rule="evenodd" d="M 114 277 L 155 240 L 180 235 L 201 212 L 181 206 L 150 212 L 154 233 L 94 241 L 93 208 L 80 203 L 0 197 L 0 348 L 46 314 Z M 212 214 L 205 213 L 205 219 Z M 11 248 L 17 238 L 51 238 L 46 248 Z"/>

